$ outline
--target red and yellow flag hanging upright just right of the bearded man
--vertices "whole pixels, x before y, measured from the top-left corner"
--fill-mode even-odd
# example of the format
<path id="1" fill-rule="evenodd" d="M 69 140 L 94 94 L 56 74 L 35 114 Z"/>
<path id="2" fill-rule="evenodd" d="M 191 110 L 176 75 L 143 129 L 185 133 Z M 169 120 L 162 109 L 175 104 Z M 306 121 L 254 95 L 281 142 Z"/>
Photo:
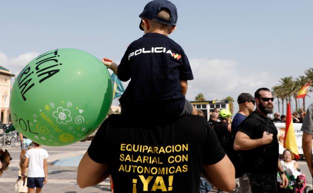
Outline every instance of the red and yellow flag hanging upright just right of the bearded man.
<path id="1" fill-rule="evenodd" d="M 284 138 L 284 148 L 289 149 L 296 159 L 299 159 L 298 145 L 295 139 L 294 127 L 290 109 L 290 102 L 287 103 L 286 128 Z"/>

